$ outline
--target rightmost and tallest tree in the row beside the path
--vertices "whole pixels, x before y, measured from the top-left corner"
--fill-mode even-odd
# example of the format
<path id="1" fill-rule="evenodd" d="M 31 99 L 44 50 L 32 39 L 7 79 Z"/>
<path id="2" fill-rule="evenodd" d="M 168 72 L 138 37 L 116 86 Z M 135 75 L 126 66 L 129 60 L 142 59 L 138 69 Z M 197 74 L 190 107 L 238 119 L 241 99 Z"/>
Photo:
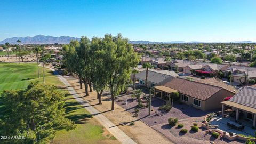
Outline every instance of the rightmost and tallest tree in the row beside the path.
<path id="1" fill-rule="evenodd" d="M 111 110 L 114 110 L 115 97 L 130 83 L 132 68 L 137 67 L 139 58 L 137 53 L 133 52 L 128 39 L 123 38 L 121 34 L 114 37 L 106 34 L 102 45 L 106 51 L 105 65 L 112 100 Z"/>

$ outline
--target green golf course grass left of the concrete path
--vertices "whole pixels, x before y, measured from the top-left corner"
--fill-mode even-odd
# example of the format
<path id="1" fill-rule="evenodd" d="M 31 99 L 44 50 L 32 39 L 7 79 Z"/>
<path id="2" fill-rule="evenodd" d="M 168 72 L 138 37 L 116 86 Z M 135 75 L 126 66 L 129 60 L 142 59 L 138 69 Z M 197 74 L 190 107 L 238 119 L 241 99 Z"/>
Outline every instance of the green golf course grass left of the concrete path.
<path id="1" fill-rule="evenodd" d="M 40 68 L 42 83 L 42 67 Z M 0 63 L 0 93 L 6 89 L 24 89 L 31 81 L 38 81 L 36 63 L 16 63 L 5 64 Z M 52 75 L 52 71 L 45 69 L 46 84 L 64 86 L 59 78 Z M 79 105 L 75 99 L 65 89 L 60 89 L 67 96 L 66 101 L 66 117 L 74 121 L 77 125 L 76 129 L 71 131 L 59 130 L 51 143 L 117 143 L 117 140 L 110 138 L 111 135 L 105 136 L 101 125 L 95 122 L 92 115 Z M 0 102 L 0 109 L 1 109 Z"/>

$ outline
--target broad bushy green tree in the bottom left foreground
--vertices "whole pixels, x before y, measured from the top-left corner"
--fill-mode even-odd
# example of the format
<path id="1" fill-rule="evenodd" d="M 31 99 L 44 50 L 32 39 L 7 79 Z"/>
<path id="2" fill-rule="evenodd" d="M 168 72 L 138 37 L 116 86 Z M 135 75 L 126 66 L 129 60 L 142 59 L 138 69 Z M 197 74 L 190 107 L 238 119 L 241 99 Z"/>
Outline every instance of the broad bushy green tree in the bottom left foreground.
<path id="1" fill-rule="evenodd" d="M 57 129 L 72 130 L 76 125 L 65 118 L 64 94 L 56 86 L 30 83 L 25 90 L 5 90 L 1 102 L 5 116 L 0 117 L 2 135 L 20 135 L 3 143 L 49 143 Z"/>

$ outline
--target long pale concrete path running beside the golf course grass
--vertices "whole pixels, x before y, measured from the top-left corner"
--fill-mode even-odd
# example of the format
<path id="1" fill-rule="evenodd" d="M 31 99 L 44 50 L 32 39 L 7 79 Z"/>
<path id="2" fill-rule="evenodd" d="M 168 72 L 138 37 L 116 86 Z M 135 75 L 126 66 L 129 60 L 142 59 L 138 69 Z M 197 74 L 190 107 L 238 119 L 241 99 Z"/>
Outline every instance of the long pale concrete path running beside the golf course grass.
<path id="1" fill-rule="evenodd" d="M 48 67 L 49 68 L 49 67 Z M 50 68 L 51 70 L 54 71 L 54 69 Z M 82 99 L 74 90 L 74 88 L 69 84 L 69 82 L 63 78 L 62 76 L 59 76 L 56 71 L 53 72 L 54 75 L 56 75 L 62 83 L 64 83 L 68 88 L 68 91 L 70 94 L 73 95 L 75 100 L 83 106 L 89 113 L 94 115 L 94 118 L 96 118 L 106 129 L 116 137 L 118 141 L 121 143 L 127 143 L 127 144 L 135 144 L 135 142 L 128 136 L 126 135 L 122 130 L 120 130 L 115 124 L 113 124 L 111 121 L 109 121 L 108 118 L 106 118 L 104 115 L 100 114 L 100 111 L 95 109 L 93 106 L 91 106 L 89 103 L 87 103 L 84 99 Z"/>

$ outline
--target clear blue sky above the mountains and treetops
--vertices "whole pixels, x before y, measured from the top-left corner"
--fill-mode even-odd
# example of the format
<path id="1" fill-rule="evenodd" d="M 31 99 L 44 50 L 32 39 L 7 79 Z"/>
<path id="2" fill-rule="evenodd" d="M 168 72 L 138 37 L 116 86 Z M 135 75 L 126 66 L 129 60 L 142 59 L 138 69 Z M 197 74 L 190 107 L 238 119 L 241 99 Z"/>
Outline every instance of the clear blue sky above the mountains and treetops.
<path id="1" fill-rule="evenodd" d="M 0 1 L 0 41 L 35 35 L 256 41 L 256 1 Z"/>

